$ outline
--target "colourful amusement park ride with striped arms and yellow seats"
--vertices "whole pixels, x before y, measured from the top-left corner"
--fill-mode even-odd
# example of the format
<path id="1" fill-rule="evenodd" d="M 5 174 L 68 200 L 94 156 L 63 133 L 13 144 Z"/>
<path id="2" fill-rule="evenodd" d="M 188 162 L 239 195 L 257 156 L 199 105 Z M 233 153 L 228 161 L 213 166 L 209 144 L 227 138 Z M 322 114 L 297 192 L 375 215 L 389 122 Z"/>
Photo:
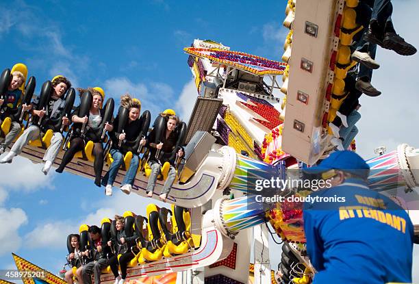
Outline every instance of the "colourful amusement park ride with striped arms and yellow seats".
<path id="1" fill-rule="evenodd" d="M 166 277 L 167 282 L 155 283 L 249 283 L 249 271 L 253 283 L 312 281 L 315 271 L 305 256 L 301 207 L 278 203 L 266 211 L 252 206 L 248 172 L 285 179 L 288 170 L 302 163 L 313 165 L 334 150 L 328 123 L 344 101 L 342 82 L 355 64 L 348 45 L 360 28 L 356 5 L 357 0 L 288 1 L 283 25 L 290 32 L 283 62 L 231 51 L 210 40 L 194 40 L 184 49 L 199 94 L 188 124 L 186 157 L 168 196 L 170 210 L 151 204 L 147 212 L 138 208 L 124 213 L 144 239 L 129 263 L 127 281 L 142 283 L 140 277 L 178 272 L 177 280 Z M 355 150 L 355 142 L 351 148 Z M 39 163 L 44 153 L 45 145 L 32 144 L 21 155 Z M 92 157 L 86 156 L 73 159 L 66 170 L 93 179 Z M 419 167 L 418 149 L 402 144 L 368 164 L 372 190 L 396 195 L 404 188 L 407 198 L 419 193 L 418 172 L 411 170 Z M 124 175 L 121 169 L 117 184 Z M 163 183 L 158 181 L 154 198 Z M 132 192 L 145 196 L 146 186 L 147 176 L 140 169 Z M 102 229 L 112 226 L 107 217 L 111 216 L 103 216 Z M 419 220 L 412 221 L 419 235 Z M 283 240 L 282 248 L 269 248 L 266 222 Z M 80 228 L 87 234 L 86 226 Z M 255 261 L 249 269 L 252 244 Z M 272 275 L 270 249 L 282 252 L 281 277 Z M 14 259 L 19 269 L 39 269 L 17 255 Z M 114 281 L 109 272 L 103 272 L 102 283 Z M 52 274 L 41 280 L 64 283 Z"/>

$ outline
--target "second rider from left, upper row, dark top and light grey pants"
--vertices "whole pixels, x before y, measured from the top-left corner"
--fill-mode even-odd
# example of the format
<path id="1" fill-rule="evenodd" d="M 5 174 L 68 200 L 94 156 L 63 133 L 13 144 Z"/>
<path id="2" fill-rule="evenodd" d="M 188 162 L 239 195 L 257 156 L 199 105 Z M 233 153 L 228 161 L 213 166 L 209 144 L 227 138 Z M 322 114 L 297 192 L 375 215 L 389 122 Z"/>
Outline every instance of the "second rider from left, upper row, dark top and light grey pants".
<path id="1" fill-rule="evenodd" d="M 31 114 L 33 116 L 38 116 L 40 118 L 44 118 L 40 127 L 38 125 L 31 125 L 25 131 L 21 137 L 16 140 L 16 143 L 12 146 L 12 149 L 3 159 L 1 159 L 0 163 L 12 163 L 12 160 L 16 155 L 19 155 L 22 152 L 23 147 L 25 147 L 30 140 L 35 140 L 36 138 L 40 138 L 42 133 L 45 133 L 48 129 L 51 129 L 51 121 L 53 119 L 60 118 L 60 115 L 65 107 L 66 101 L 62 99 L 62 96 L 65 94 L 68 88 L 71 88 L 71 82 L 64 76 L 56 76 L 54 77 L 53 81 L 51 82 L 52 90 L 51 96 L 49 97 L 49 101 L 47 102 L 47 109 L 31 109 Z M 34 100 L 34 105 L 38 104 L 39 98 Z M 32 107 L 33 108 L 33 105 Z M 63 116 L 62 118 L 63 125 L 69 125 L 70 121 L 68 118 Z M 45 165 L 42 168 L 42 172 L 44 175 L 48 174 L 49 169 L 51 168 L 55 157 L 57 157 L 58 152 L 60 151 L 60 146 L 62 144 L 62 133 L 61 132 L 54 132 L 53 137 L 51 138 L 51 144 L 49 145 L 47 151 L 45 151 L 45 155 L 42 158 L 45 161 Z"/>

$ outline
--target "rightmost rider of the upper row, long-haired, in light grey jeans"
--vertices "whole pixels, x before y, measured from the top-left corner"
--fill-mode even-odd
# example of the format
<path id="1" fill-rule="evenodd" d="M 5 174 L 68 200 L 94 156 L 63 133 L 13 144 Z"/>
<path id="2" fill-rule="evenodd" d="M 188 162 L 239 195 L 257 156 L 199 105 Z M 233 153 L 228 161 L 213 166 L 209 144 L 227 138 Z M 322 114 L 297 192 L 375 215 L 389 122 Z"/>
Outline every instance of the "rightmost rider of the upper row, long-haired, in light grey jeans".
<path id="1" fill-rule="evenodd" d="M 160 114 L 162 115 L 162 114 Z M 155 182 L 157 181 L 157 177 L 160 174 L 160 170 L 162 169 L 162 165 L 165 162 L 169 162 L 170 169 L 168 171 L 168 177 L 164 183 L 164 187 L 162 190 L 162 193 L 160 194 L 159 198 L 162 201 L 166 201 L 166 198 L 170 192 L 170 189 L 172 188 L 173 183 L 176 179 L 176 168 L 175 168 L 175 161 L 173 159 L 170 159 L 172 155 L 173 148 L 175 147 L 176 141 L 177 141 L 177 135 L 175 133 L 176 125 L 179 123 L 179 118 L 175 115 L 169 115 L 166 116 L 166 129 L 164 131 L 164 135 L 162 137 L 162 141 L 159 144 L 155 144 L 153 141 L 155 140 L 155 131 L 156 129 L 153 128 L 153 130 L 149 134 L 149 149 L 150 149 L 150 160 L 149 165 L 151 167 L 151 174 L 149 177 L 149 183 L 147 184 L 147 197 L 153 196 L 153 191 L 155 188 Z M 162 157 L 157 159 L 155 157 L 155 154 L 157 153 L 157 149 L 160 149 L 162 153 Z M 179 149 L 177 151 L 177 155 L 179 157 L 183 156 L 183 149 Z"/>

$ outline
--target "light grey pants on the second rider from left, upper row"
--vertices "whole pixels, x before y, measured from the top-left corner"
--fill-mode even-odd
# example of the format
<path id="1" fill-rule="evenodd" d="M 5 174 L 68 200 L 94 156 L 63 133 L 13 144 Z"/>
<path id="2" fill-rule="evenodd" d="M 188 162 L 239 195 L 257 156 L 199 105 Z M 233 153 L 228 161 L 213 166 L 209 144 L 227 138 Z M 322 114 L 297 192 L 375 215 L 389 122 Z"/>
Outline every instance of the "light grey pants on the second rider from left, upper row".
<path id="1" fill-rule="evenodd" d="M 29 143 L 30 140 L 39 139 L 40 129 L 36 125 L 29 126 L 19 139 L 14 143 L 12 150 L 16 155 L 19 155 L 22 152 L 23 147 Z M 62 134 L 60 132 L 54 132 L 53 137 L 51 138 L 51 145 L 49 145 L 43 160 L 54 162 L 55 157 L 57 157 L 58 152 L 60 152 L 60 146 L 62 144 Z"/>

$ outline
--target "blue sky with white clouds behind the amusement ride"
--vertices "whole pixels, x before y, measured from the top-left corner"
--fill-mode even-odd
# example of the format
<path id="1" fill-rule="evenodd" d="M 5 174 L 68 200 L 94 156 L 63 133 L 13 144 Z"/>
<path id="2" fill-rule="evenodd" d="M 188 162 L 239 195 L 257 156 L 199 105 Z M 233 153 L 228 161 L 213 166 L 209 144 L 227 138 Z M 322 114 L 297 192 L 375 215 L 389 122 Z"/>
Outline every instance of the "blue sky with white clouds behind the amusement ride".
<path id="1" fill-rule="evenodd" d="M 286 1 L 255 3 L 262 1 L 2 1 L 0 68 L 27 64 L 38 81 L 37 92 L 43 81 L 61 74 L 76 87 L 101 86 L 115 99 L 131 92 L 152 114 L 170 107 L 188 120 L 194 103 L 188 98 L 196 90 L 182 49 L 194 38 L 280 60 Z M 419 46 L 417 1 L 394 5 L 396 29 Z M 418 133 L 411 129 L 419 115 L 407 103 L 418 96 L 410 77 L 419 66 L 418 55 L 400 57 L 379 49 L 377 58 L 381 69 L 373 83 L 383 95 L 361 98 L 357 148 L 364 157 L 381 144 L 389 150 L 401 142 L 419 146 Z M 6 228 L 0 231 L 0 268 L 13 267 L 14 252 L 57 272 L 64 264 L 65 237 L 79 224 L 126 209 L 141 214 L 145 204 L 120 192 L 105 198 L 103 189 L 75 175 L 44 177 L 39 165 L 23 158 L 0 165 L 0 225 Z"/>

